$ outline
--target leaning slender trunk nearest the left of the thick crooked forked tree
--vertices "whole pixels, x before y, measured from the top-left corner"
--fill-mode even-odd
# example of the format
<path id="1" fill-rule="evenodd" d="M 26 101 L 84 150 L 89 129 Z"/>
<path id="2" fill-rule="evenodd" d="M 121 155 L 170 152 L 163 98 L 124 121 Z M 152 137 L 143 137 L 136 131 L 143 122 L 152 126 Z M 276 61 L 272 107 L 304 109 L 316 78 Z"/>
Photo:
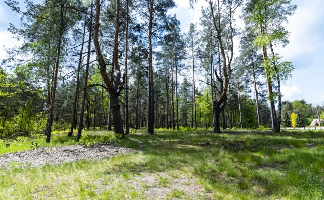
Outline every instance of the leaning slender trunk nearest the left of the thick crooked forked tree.
<path id="1" fill-rule="evenodd" d="M 89 32 L 88 32 L 88 54 L 87 54 L 87 64 L 86 64 L 86 73 L 85 73 L 85 81 L 83 87 L 83 96 L 80 108 L 80 117 L 79 117 L 79 127 L 77 129 L 76 141 L 81 139 L 81 132 L 83 129 L 83 115 L 85 111 L 85 103 L 86 103 L 86 95 L 87 95 L 87 84 L 88 84 L 88 72 L 89 72 L 89 62 L 90 62 L 90 51 L 91 51 L 91 33 L 92 33 L 92 4 L 90 8 L 90 21 L 89 21 Z M 88 126 L 88 125 L 87 125 Z"/>

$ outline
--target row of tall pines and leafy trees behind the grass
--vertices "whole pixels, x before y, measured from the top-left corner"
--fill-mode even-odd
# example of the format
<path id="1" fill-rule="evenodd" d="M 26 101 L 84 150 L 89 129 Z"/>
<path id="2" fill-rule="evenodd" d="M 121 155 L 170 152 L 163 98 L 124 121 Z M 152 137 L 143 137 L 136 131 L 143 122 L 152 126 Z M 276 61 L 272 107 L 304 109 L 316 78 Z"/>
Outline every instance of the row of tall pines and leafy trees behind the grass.
<path id="1" fill-rule="evenodd" d="M 274 49 L 288 43 L 289 0 L 207 1 L 203 29 L 191 24 L 185 34 L 167 15 L 172 0 L 5 2 L 23 16 L 9 28 L 23 45 L 3 62 L 13 73 L 1 70 L 2 133 L 46 127 L 49 142 L 53 122 L 70 136 L 77 128 L 77 140 L 84 122 L 121 137 L 129 127 L 280 130 L 280 82 L 293 66 Z"/>

